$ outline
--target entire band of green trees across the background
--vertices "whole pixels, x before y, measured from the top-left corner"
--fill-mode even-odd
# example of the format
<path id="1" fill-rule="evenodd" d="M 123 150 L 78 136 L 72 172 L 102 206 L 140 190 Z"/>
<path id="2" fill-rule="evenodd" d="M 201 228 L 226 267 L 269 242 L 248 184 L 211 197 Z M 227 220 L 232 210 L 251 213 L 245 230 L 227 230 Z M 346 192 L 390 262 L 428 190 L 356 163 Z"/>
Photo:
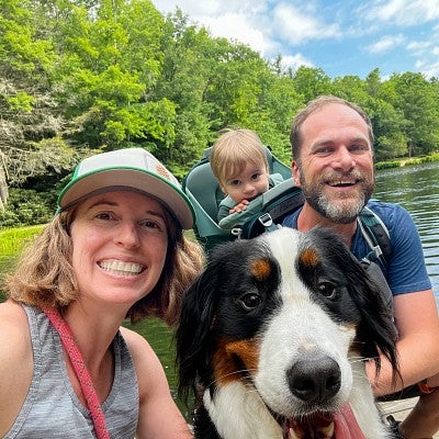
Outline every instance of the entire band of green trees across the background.
<path id="1" fill-rule="evenodd" d="M 255 130 L 289 162 L 294 114 L 329 93 L 368 111 L 378 160 L 438 148 L 436 78 L 293 71 L 150 0 L 0 0 L 0 179 L 11 187 L 44 188 L 90 150 L 128 146 L 182 177 L 229 126 Z"/>

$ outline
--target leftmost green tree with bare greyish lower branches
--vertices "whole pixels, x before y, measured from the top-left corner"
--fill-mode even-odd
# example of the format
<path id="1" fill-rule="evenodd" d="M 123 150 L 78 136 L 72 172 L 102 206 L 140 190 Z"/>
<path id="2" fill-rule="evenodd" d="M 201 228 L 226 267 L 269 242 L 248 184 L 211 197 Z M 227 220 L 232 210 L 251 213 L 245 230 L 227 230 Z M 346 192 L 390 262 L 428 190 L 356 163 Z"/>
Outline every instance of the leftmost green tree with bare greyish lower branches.
<path id="1" fill-rule="evenodd" d="M 40 20 L 40 3 L 0 0 L 0 5 L 1 167 L 8 182 L 20 185 L 32 176 L 70 168 L 71 154 L 59 138 L 64 120 L 52 95 L 59 57 Z M 49 145 L 49 138 L 58 139 Z"/>

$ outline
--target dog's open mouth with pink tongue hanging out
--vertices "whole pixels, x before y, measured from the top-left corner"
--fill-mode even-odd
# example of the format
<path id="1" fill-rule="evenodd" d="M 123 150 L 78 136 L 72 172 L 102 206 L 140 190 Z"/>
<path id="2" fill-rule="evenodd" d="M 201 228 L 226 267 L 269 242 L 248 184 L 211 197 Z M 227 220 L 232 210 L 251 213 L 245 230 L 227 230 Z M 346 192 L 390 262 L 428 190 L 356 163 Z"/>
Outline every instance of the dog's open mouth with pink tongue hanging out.
<path id="1" fill-rule="evenodd" d="M 335 415 L 313 415 L 285 423 L 283 439 L 365 439 L 346 404 Z"/>

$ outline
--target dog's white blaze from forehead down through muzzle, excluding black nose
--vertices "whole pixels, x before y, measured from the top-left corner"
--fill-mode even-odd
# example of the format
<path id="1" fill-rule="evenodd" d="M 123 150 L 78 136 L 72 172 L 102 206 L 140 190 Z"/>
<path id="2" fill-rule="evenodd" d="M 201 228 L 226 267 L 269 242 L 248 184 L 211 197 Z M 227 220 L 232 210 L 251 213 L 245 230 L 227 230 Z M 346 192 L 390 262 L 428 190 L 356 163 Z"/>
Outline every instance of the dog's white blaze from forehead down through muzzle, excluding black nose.
<path id="1" fill-rule="evenodd" d="M 267 323 L 255 378 L 258 391 L 270 408 L 288 417 L 306 414 L 306 404 L 290 392 L 286 376 L 288 370 L 305 354 L 326 354 L 339 364 L 341 387 L 330 403 L 331 408 L 337 409 L 348 401 L 352 386 L 352 370 L 347 357 L 354 329 L 337 324 L 313 303 L 293 262 L 301 237 L 300 232 L 283 228 L 270 233 L 267 240 L 282 272 L 278 292 L 282 305 Z"/>

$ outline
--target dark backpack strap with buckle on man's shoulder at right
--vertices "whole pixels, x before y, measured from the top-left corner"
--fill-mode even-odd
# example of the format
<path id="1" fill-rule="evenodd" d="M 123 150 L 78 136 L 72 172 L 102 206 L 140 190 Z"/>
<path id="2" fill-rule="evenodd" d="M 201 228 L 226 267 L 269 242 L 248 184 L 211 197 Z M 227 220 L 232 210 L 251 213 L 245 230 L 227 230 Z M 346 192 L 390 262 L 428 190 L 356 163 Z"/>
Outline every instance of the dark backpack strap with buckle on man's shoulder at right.
<path id="1" fill-rule="evenodd" d="M 364 207 L 361 211 L 357 222 L 365 241 L 371 248 L 365 258 L 371 261 L 379 260 L 386 267 L 392 254 L 392 244 L 387 227 L 380 216 L 369 207 Z"/>

